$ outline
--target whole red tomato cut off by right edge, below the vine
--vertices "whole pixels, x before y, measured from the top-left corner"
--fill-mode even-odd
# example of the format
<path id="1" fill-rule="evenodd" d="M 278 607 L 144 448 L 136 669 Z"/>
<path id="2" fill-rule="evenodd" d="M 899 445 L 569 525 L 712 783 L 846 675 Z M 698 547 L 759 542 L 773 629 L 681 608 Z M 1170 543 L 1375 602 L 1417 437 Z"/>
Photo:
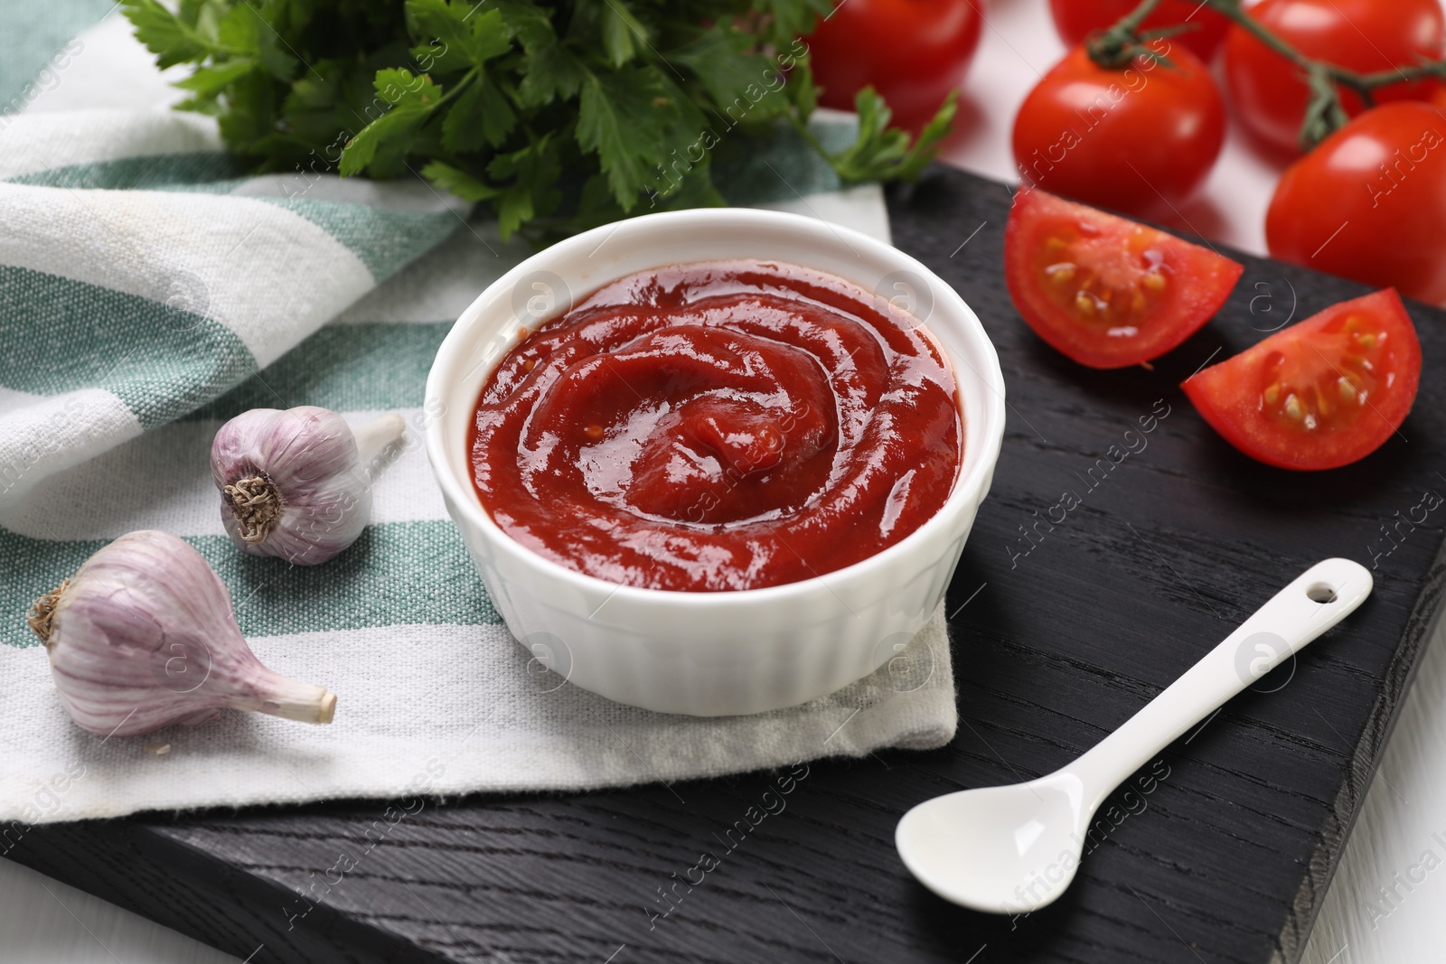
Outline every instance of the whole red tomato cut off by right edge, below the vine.
<path id="1" fill-rule="evenodd" d="M 1265 243 L 1296 264 L 1446 301 L 1446 110 L 1382 104 L 1326 137 L 1281 175 Z"/>

